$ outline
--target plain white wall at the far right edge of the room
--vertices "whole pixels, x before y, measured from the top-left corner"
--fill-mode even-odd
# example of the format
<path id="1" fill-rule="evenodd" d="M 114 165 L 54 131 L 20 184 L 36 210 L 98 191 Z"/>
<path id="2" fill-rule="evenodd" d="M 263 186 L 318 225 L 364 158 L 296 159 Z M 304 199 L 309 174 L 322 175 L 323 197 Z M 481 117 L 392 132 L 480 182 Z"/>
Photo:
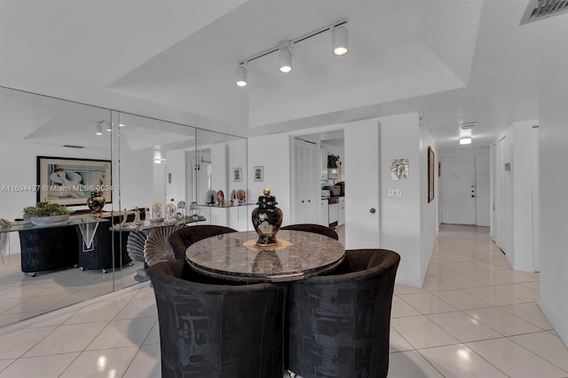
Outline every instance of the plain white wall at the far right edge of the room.
<path id="1" fill-rule="evenodd" d="M 540 309 L 568 345 L 568 79 L 540 97 Z"/>

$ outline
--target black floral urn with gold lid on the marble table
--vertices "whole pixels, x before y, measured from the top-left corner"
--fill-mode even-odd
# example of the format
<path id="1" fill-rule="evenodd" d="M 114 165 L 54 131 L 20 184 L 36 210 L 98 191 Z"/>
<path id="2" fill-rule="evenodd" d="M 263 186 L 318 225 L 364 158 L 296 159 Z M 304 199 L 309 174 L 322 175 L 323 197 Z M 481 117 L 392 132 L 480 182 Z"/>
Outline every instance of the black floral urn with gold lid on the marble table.
<path id="1" fill-rule="evenodd" d="M 282 224 L 282 210 L 276 207 L 276 197 L 270 195 L 270 189 L 264 189 L 264 195 L 258 197 L 257 208 L 252 210 L 252 225 L 258 234 L 256 244 L 271 246 L 278 243 L 276 233 Z"/>

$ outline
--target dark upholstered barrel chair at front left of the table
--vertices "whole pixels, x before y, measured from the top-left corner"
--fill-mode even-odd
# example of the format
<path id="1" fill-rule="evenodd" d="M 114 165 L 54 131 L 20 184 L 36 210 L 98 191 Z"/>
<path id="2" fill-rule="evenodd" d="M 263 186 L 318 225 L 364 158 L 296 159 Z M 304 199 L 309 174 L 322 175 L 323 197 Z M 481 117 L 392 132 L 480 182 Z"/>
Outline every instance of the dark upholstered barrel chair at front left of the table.
<path id="1" fill-rule="evenodd" d="M 181 260 L 147 273 L 163 377 L 282 377 L 286 285 L 217 280 Z"/>

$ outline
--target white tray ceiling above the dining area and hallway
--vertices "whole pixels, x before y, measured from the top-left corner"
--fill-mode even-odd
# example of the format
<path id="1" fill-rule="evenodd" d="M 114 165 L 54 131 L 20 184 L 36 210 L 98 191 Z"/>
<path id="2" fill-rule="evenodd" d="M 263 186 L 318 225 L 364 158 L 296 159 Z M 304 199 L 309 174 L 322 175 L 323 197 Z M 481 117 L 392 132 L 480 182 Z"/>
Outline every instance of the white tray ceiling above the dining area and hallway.
<path id="1" fill-rule="evenodd" d="M 0 0 L 0 85 L 241 136 L 422 112 L 438 148 L 457 146 L 461 122 L 478 122 L 472 146 L 488 146 L 538 119 L 539 92 L 565 75 L 568 14 L 519 26 L 527 4 Z M 343 19 L 348 55 L 333 57 L 322 33 L 296 44 L 291 74 L 270 54 L 234 85 L 241 59 Z M 18 97 L 0 108 L 17 138 L 78 123 Z M 156 138 L 129 132 L 137 146 Z"/>

